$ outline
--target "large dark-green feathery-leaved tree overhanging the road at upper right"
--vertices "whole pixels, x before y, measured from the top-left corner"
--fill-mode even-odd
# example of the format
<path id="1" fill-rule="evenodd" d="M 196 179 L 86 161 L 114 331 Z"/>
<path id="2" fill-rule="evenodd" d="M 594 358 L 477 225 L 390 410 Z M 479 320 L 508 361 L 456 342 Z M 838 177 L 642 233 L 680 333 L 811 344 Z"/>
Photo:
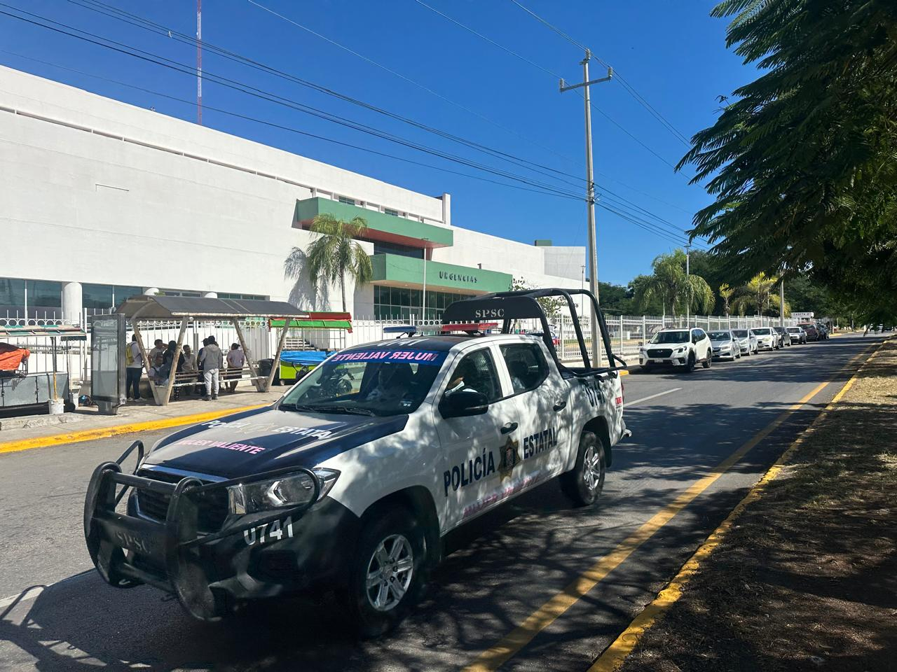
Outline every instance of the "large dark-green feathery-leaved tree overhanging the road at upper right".
<path id="1" fill-rule="evenodd" d="M 724 0 L 712 14 L 762 74 L 679 164 L 715 197 L 692 233 L 729 282 L 806 271 L 897 314 L 897 3 Z"/>

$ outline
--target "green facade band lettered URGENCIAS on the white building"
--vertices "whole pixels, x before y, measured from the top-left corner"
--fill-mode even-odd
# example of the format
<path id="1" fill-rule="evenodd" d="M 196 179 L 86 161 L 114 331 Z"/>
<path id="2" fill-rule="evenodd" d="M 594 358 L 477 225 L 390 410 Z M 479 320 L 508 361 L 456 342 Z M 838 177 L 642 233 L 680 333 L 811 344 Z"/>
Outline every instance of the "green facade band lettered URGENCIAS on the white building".
<path id="1" fill-rule="evenodd" d="M 401 254 L 372 254 L 373 282 L 396 282 L 420 287 L 423 260 Z M 503 292 L 510 289 L 510 273 L 456 266 L 453 263 L 427 262 L 427 287 L 458 289 L 475 293 Z"/>

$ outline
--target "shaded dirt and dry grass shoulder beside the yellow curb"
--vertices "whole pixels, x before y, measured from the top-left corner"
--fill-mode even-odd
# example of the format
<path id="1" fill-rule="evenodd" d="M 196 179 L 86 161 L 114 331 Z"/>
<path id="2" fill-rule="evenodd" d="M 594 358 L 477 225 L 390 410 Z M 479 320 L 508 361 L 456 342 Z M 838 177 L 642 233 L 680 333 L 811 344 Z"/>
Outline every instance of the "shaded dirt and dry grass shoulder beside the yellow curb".
<path id="1" fill-rule="evenodd" d="M 622 669 L 897 670 L 897 340 L 815 424 Z"/>

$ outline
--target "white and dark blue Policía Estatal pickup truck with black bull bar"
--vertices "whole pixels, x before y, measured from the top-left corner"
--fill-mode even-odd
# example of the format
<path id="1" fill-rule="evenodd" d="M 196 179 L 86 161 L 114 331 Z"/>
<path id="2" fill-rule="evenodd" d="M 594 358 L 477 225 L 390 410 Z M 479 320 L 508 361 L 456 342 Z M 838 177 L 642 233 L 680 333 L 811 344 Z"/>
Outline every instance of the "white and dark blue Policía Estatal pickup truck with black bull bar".
<path id="1" fill-rule="evenodd" d="M 84 511 L 100 574 L 165 590 L 204 620 L 333 590 L 374 636 L 414 604 L 449 530 L 554 477 L 576 504 L 594 503 L 629 434 L 619 367 L 591 366 L 579 331 L 579 367 L 558 361 L 546 325 L 547 337 L 509 333 L 514 320 L 545 322 L 543 296 L 575 314 L 558 289 L 458 301 L 443 333 L 345 349 L 273 406 L 100 464 Z"/>

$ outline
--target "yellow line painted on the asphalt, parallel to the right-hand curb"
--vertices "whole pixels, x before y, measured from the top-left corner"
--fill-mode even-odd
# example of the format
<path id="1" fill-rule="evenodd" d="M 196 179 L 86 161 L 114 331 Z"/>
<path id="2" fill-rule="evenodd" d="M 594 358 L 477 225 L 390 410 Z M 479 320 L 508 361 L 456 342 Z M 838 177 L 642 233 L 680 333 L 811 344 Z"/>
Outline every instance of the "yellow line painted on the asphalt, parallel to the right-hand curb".
<path id="1" fill-rule="evenodd" d="M 676 513 L 679 513 L 685 506 L 691 504 L 698 495 L 701 495 L 704 490 L 713 485 L 732 465 L 741 460 L 747 452 L 785 422 L 794 411 L 813 399 L 828 384 L 828 382 L 819 383 L 800 401 L 789 406 L 778 418 L 753 435 L 753 438 L 742 445 L 736 452 L 729 455 L 726 460 L 720 462 L 713 470 L 710 470 L 707 476 L 695 481 L 691 487 L 688 487 L 682 494 L 677 496 L 672 503 L 667 504 L 658 513 L 655 513 L 649 521 L 643 523 L 638 530 L 635 530 L 629 537 L 623 539 L 623 542 L 615 547 L 613 551 L 600 558 L 561 592 L 545 602 L 530 616 L 527 616 L 523 623 L 514 628 L 500 642 L 483 651 L 473 663 L 464 668 L 464 672 L 492 672 L 500 668 L 505 661 L 531 642 L 536 637 L 536 634 L 541 633 L 549 625 L 552 625 L 559 616 L 562 616 L 567 609 L 576 604 L 589 590 L 595 588 L 598 582 L 601 582 L 607 574 L 611 573 L 620 564 L 623 564 L 626 558 L 654 536 Z"/>

